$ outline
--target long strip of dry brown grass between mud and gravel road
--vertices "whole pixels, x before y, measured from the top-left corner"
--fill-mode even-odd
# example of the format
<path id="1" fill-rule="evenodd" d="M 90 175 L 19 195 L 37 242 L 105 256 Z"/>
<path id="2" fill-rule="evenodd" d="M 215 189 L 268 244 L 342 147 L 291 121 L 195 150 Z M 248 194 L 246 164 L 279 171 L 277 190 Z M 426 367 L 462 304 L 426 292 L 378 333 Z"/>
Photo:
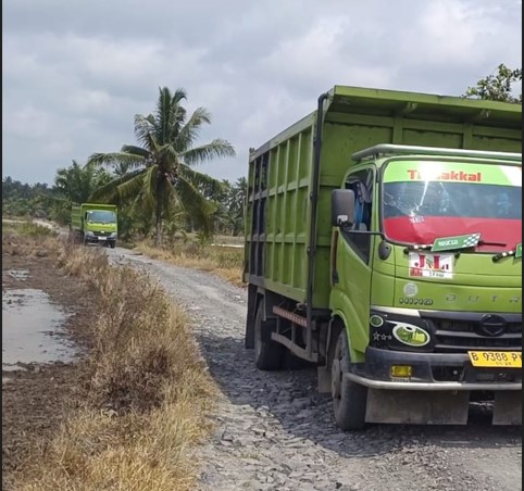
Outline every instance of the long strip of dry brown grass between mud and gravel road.
<path id="1" fill-rule="evenodd" d="M 195 489 L 195 448 L 211 429 L 216 388 L 185 314 L 148 277 L 110 267 L 101 251 L 55 242 L 59 265 L 88 285 L 97 305 L 89 395 L 15 489 Z"/>

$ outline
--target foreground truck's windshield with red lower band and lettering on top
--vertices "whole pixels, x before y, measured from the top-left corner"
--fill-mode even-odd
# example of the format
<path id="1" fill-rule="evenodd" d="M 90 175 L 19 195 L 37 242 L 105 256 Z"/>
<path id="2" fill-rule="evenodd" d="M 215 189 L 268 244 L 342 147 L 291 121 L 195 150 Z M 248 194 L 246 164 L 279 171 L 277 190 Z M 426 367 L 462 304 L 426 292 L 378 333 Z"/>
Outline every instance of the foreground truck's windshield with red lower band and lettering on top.
<path id="1" fill-rule="evenodd" d="M 481 234 L 476 251 L 522 242 L 522 169 L 502 164 L 391 161 L 384 171 L 383 230 L 395 242 Z"/>

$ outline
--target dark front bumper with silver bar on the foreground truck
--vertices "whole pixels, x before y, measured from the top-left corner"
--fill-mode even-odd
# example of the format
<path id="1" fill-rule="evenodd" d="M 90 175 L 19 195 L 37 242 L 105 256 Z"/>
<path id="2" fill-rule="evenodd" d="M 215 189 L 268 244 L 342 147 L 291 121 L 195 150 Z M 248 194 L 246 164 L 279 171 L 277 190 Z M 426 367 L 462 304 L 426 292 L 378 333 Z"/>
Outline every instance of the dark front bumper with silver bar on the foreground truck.
<path id="1" fill-rule="evenodd" d="M 365 364 L 345 377 L 371 389 L 391 390 L 522 390 L 517 368 L 475 368 L 467 354 L 411 353 L 367 348 Z M 410 365 L 410 378 L 391 378 L 391 365 Z"/>

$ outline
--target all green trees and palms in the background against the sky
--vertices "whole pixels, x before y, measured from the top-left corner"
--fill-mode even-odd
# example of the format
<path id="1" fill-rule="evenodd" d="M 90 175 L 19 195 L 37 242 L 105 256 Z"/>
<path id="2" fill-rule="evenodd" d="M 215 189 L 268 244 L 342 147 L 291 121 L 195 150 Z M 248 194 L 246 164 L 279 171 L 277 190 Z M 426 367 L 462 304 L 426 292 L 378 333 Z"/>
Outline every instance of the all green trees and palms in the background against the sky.
<path id="1" fill-rule="evenodd" d="M 462 97 L 522 104 L 522 68 L 500 64 L 469 87 Z M 34 216 L 68 224 L 71 205 L 104 202 L 118 206 L 118 230 L 125 238 L 198 232 L 237 236 L 244 231 L 247 180 L 219 180 L 195 167 L 212 159 L 235 155 L 233 146 L 215 138 L 197 144 L 200 129 L 211 123 L 205 108 L 188 114 L 184 89 L 159 88 L 155 110 L 135 116 L 136 144 L 120 151 L 92 153 L 84 165 L 72 161 L 59 168 L 54 185 L 29 186 L 11 177 L 2 179 L 3 215 Z"/>

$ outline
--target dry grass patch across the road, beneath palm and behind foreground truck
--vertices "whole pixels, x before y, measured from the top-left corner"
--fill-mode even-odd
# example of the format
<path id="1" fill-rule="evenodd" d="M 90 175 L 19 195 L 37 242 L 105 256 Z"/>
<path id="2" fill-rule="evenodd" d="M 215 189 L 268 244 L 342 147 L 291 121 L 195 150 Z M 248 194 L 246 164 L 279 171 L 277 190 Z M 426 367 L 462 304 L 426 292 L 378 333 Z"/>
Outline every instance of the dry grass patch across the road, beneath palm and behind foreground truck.
<path id="1" fill-rule="evenodd" d="M 158 249 L 141 242 L 135 250 L 177 266 L 212 273 L 238 287 L 246 286 L 242 281 L 244 249 L 241 248 L 201 246 L 189 241 L 175 243 L 169 249 Z"/>

